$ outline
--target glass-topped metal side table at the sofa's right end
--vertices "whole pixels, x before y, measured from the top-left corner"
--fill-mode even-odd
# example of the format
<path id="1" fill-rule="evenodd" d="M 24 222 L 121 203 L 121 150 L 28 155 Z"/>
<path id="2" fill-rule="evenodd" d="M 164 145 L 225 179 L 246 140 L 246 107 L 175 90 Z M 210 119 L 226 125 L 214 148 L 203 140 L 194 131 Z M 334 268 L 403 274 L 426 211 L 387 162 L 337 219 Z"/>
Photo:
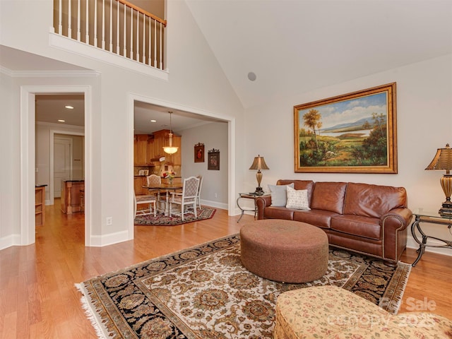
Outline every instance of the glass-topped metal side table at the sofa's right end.
<path id="1" fill-rule="evenodd" d="M 415 215 L 415 221 L 411 224 L 411 234 L 413 239 L 415 239 L 415 242 L 419 244 L 419 249 L 417 249 L 417 258 L 411 266 L 416 266 L 417 262 L 420 261 L 422 254 L 424 254 L 425 247 L 452 249 L 452 241 L 427 235 L 421 227 L 421 222 L 430 222 L 432 224 L 447 225 L 450 232 L 452 227 L 452 215 L 440 215 L 436 211 L 428 211 L 423 208 L 416 208 L 413 210 L 412 214 Z M 427 243 L 428 239 L 435 239 L 439 242 L 443 242 L 444 244 Z"/>

